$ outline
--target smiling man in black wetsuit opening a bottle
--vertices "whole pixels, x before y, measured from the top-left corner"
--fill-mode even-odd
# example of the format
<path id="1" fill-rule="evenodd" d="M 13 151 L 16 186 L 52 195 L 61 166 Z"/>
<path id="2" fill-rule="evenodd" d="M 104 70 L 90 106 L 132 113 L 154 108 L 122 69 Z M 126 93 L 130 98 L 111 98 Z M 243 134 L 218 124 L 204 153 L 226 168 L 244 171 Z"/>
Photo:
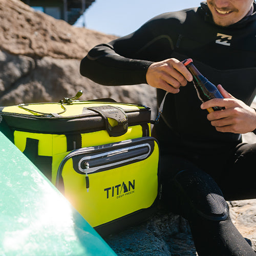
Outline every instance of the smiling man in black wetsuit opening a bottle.
<path id="1" fill-rule="evenodd" d="M 255 255 L 225 201 L 256 198 L 256 144 L 241 140 L 256 129 L 249 106 L 256 92 L 255 45 L 253 0 L 207 0 L 199 8 L 161 14 L 130 35 L 96 46 L 81 61 L 81 74 L 98 83 L 157 88 L 158 106 L 169 92 L 155 125 L 163 202 L 188 220 L 199 255 Z M 181 62 L 186 58 L 222 84 L 224 99 L 201 104 Z M 208 114 L 212 106 L 225 110 Z"/>

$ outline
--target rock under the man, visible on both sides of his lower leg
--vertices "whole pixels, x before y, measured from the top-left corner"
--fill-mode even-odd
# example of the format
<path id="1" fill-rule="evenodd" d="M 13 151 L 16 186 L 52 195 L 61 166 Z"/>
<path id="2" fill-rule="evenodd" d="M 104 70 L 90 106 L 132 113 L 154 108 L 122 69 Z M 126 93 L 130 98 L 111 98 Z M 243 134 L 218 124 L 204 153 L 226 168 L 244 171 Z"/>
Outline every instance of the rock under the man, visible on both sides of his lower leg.
<path id="1" fill-rule="evenodd" d="M 256 199 L 228 202 L 234 225 L 256 251 Z M 140 226 L 105 238 L 119 256 L 198 255 L 185 219 L 158 212 Z"/>

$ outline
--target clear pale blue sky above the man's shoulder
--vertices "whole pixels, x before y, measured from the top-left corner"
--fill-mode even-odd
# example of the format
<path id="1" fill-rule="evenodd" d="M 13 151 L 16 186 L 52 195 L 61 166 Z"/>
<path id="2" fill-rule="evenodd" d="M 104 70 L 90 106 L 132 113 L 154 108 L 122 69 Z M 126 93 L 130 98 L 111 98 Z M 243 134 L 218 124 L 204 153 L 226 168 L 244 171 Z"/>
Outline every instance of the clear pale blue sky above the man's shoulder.
<path id="1" fill-rule="evenodd" d="M 95 0 L 75 26 L 124 36 L 163 12 L 200 6 L 200 0 Z"/>

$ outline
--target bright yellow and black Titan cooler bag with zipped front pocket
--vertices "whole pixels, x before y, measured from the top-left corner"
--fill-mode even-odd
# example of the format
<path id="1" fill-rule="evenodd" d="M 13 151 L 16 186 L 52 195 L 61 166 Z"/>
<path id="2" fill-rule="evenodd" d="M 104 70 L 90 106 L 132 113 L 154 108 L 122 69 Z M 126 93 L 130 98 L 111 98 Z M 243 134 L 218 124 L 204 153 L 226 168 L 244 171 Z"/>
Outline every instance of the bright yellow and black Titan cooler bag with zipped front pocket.
<path id="1" fill-rule="evenodd" d="M 0 107 L 0 130 L 104 235 L 154 209 L 158 144 L 146 106 L 78 97 Z"/>

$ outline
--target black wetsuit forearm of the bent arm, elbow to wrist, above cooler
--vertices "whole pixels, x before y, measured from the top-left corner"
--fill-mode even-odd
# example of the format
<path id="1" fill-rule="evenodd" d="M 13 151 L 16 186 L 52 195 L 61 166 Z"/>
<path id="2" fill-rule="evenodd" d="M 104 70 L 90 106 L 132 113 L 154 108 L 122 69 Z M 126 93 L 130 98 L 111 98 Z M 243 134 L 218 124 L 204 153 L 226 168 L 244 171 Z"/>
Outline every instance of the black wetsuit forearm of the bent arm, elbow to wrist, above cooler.
<path id="1" fill-rule="evenodd" d="M 105 86 L 146 83 L 152 62 L 121 56 L 112 44 L 115 42 L 94 47 L 82 59 L 80 74 Z"/>

